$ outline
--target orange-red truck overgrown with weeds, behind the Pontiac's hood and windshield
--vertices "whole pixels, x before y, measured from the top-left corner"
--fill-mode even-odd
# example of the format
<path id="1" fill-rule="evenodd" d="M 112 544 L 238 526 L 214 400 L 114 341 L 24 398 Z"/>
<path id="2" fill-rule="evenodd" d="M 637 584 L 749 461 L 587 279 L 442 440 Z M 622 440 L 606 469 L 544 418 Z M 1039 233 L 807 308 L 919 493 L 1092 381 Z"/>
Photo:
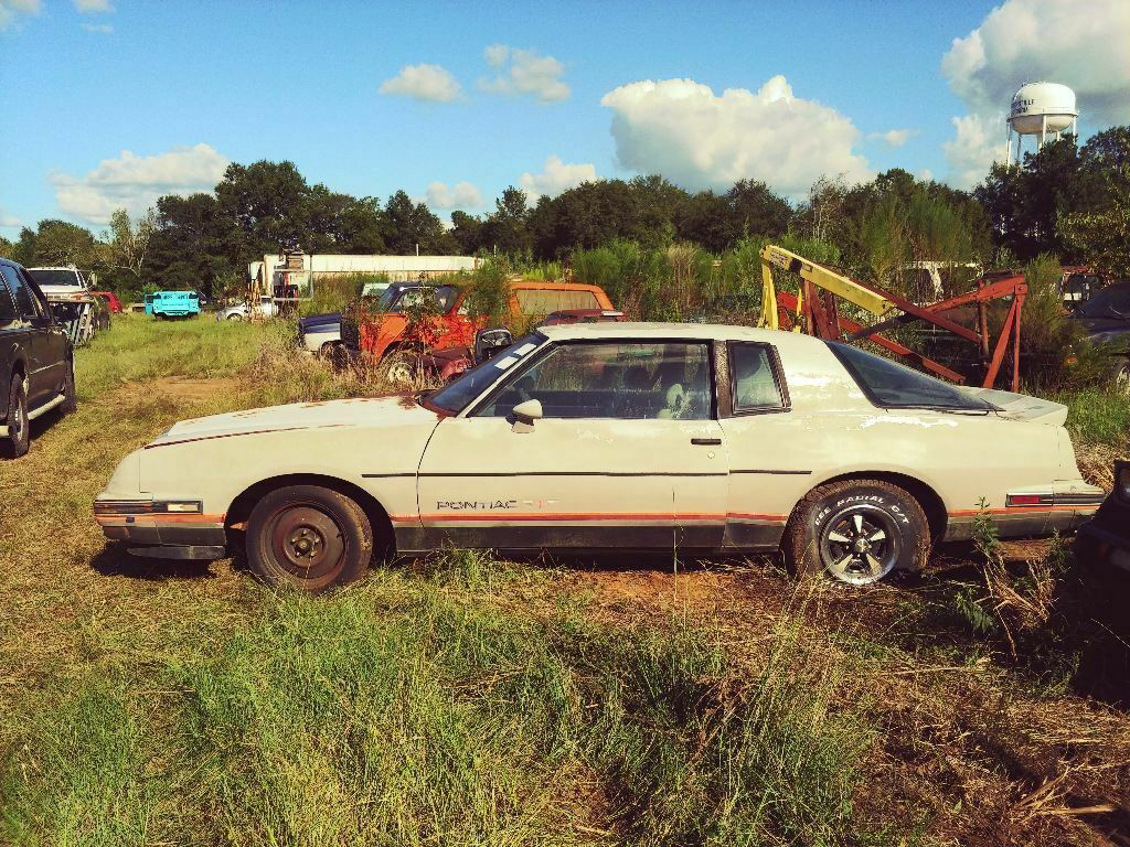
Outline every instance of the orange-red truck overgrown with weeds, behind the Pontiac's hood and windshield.
<path id="1" fill-rule="evenodd" d="M 612 312 L 614 307 L 599 286 L 518 280 L 510 283 L 506 311 L 505 323 L 514 324 L 555 312 Z M 410 383 L 423 353 L 466 351 L 486 325 L 486 318 L 471 317 L 467 291 L 459 286 L 399 282 L 385 289 L 372 312 L 342 315 L 341 341 L 350 353 L 382 363 L 390 382 Z"/>

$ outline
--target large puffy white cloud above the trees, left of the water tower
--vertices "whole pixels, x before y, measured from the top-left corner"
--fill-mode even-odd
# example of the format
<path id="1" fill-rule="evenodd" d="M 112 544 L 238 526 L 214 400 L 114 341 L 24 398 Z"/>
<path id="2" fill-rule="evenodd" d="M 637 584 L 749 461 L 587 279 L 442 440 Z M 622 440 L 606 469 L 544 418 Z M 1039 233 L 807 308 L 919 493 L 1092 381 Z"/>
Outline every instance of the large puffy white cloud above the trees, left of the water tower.
<path id="1" fill-rule="evenodd" d="M 728 88 L 721 96 L 692 79 L 646 80 L 600 103 L 615 113 L 619 163 L 684 187 L 724 190 L 754 178 L 801 198 L 820 176 L 855 183 L 870 173 L 853 149 L 860 133 L 851 120 L 794 97 L 782 76 L 756 93 Z"/>

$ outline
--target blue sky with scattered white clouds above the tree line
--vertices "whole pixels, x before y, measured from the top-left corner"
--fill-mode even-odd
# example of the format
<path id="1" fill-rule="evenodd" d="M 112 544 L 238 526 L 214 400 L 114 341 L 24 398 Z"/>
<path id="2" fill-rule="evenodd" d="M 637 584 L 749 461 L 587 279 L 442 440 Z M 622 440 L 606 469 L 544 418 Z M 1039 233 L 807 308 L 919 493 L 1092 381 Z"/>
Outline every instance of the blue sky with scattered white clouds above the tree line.
<path id="1" fill-rule="evenodd" d="M 1084 138 L 1130 123 L 1130 0 L 0 0 L 0 235 L 259 159 L 442 216 L 641 173 L 970 187 L 1034 79 Z"/>

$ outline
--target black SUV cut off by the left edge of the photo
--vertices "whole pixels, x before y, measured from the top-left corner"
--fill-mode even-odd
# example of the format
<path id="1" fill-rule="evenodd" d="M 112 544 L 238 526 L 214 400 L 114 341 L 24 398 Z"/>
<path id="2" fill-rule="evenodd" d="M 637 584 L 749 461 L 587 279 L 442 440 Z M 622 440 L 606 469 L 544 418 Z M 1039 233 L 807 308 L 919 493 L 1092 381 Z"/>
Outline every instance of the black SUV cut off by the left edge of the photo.
<path id="1" fill-rule="evenodd" d="M 29 424 L 75 411 L 75 350 L 24 268 L 0 259 L 0 455 L 27 453 Z"/>

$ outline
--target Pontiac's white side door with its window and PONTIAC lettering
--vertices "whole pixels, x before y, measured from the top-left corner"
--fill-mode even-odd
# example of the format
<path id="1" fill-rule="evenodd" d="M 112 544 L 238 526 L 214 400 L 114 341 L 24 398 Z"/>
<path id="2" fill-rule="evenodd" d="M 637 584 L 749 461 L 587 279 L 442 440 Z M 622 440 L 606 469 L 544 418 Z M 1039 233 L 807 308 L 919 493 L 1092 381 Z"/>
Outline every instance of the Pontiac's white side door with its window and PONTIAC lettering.
<path id="1" fill-rule="evenodd" d="M 436 427 L 420 463 L 429 544 L 713 548 L 727 454 L 705 341 L 547 344 Z M 523 426 L 513 408 L 541 403 Z"/>

